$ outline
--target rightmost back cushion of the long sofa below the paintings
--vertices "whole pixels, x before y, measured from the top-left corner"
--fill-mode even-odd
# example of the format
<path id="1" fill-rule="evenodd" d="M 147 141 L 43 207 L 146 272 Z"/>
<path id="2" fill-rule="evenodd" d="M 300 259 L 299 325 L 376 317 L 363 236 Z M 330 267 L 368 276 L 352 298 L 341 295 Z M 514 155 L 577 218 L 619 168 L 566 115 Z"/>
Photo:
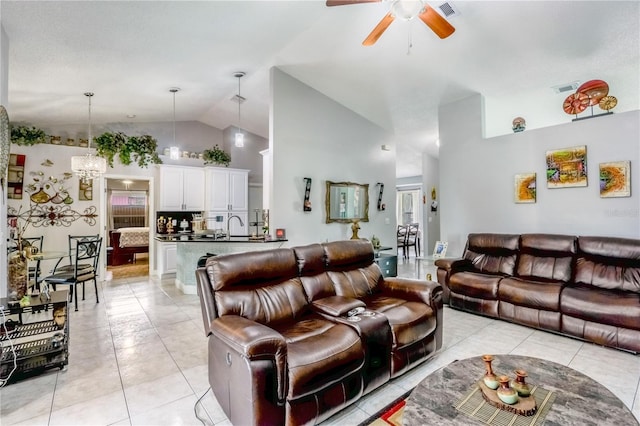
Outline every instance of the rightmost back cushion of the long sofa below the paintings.
<path id="1" fill-rule="evenodd" d="M 575 282 L 640 293 L 640 240 L 578 237 Z"/>

